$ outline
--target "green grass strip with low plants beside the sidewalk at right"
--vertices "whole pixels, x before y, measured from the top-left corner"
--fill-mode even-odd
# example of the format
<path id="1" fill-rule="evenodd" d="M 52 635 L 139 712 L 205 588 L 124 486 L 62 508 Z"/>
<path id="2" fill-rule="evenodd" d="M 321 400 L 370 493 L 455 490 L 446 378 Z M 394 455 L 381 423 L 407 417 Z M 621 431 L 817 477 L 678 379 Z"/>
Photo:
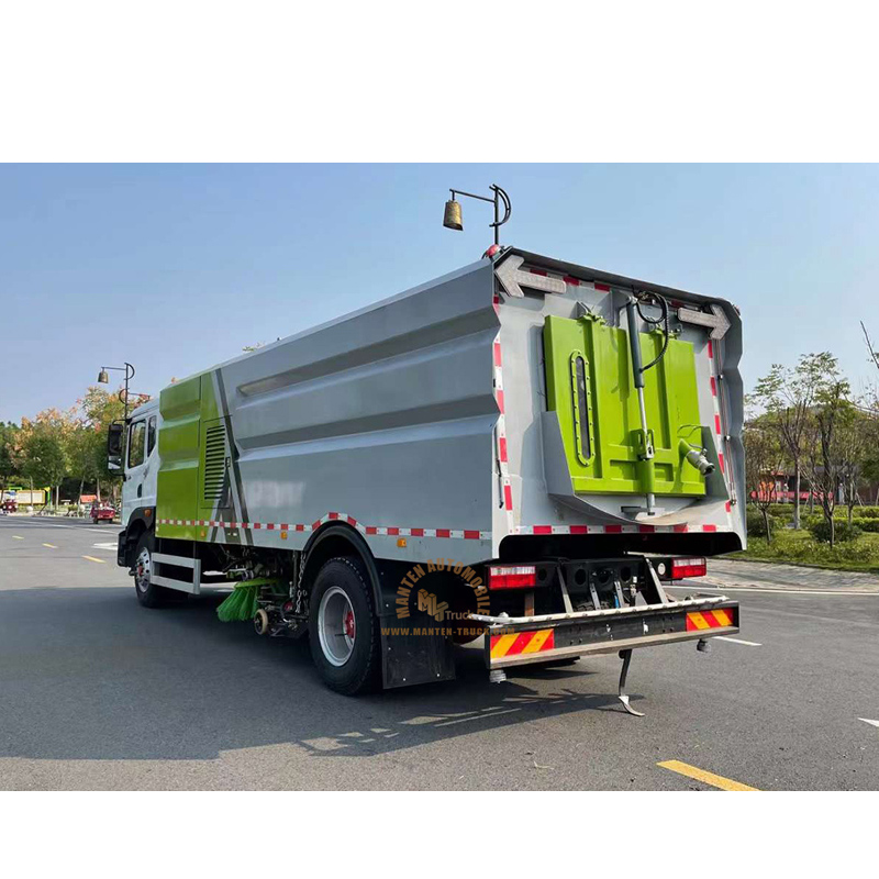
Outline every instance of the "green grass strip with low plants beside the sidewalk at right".
<path id="1" fill-rule="evenodd" d="M 748 537 L 748 548 L 728 558 L 879 574 L 879 534 L 861 534 L 831 549 L 830 544 L 819 543 L 808 531 L 779 528 L 771 543 L 765 537 Z"/>

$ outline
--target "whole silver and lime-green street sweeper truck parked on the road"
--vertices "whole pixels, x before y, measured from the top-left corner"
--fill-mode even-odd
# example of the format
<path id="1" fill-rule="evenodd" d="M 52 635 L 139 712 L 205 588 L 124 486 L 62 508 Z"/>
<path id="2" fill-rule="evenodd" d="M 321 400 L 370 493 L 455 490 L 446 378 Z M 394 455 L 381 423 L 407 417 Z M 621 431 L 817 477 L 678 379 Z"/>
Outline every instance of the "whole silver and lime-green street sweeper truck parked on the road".
<path id="1" fill-rule="evenodd" d="M 356 282 L 356 277 L 352 278 Z M 165 388 L 108 437 L 145 608 L 308 636 L 348 694 L 738 631 L 675 598 L 745 545 L 739 316 L 494 247 Z"/>

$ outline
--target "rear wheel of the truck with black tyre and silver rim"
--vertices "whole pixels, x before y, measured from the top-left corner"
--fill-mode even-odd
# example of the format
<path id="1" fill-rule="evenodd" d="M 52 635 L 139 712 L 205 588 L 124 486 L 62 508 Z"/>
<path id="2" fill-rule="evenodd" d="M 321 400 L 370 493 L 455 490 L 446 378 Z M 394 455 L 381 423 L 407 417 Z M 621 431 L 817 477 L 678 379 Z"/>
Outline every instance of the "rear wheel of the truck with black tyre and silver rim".
<path id="1" fill-rule="evenodd" d="M 331 690 L 354 696 L 378 683 L 380 638 L 363 565 L 331 558 L 318 572 L 309 604 L 311 655 Z"/>

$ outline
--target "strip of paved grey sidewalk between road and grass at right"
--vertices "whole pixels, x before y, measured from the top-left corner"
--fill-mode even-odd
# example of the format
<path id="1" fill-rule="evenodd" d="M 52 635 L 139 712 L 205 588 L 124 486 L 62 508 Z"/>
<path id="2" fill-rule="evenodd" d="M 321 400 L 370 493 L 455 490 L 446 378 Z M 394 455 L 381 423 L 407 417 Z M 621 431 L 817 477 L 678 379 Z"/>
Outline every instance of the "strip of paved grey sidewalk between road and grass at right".
<path id="1" fill-rule="evenodd" d="M 879 577 L 872 574 L 804 568 L 771 561 L 733 561 L 725 558 L 710 558 L 708 576 L 700 578 L 700 582 L 739 589 L 839 590 L 879 594 Z"/>

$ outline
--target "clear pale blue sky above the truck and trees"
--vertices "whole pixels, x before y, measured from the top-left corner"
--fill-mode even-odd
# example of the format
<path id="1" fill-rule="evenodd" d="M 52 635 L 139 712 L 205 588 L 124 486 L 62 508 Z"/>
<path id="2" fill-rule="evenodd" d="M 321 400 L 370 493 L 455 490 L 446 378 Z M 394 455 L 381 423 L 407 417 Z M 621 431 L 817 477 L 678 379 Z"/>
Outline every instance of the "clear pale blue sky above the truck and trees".
<path id="1" fill-rule="evenodd" d="M 0 420 L 68 408 L 130 361 L 156 394 L 501 243 L 735 302 L 746 388 L 831 351 L 876 377 L 879 166 L 2 165 Z M 111 376 L 121 377 L 121 372 Z"/>

